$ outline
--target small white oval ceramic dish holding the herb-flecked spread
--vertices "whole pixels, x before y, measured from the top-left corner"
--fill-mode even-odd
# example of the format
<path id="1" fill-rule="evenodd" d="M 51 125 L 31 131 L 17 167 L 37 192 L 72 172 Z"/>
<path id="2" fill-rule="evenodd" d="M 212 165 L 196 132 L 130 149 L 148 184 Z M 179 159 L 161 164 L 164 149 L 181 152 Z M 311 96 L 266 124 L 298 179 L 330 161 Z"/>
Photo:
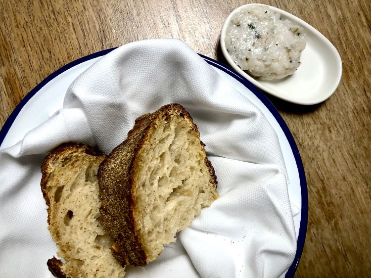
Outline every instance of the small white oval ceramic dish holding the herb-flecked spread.
<path id="1" fill-rule="evenodd" d="M 227 52 L 225 37 L 232 16 L 247 6 L 263 4 L 247 4 L 232 11 L 227 17 L 220 36 L 222 52 L 231 67 L 253 83 L 259 89 L 289 102 L 311 105 L 317 104 L 335 92 L 339 85 L 342 63 L 339 52 L 324 35 L 300 18 L 276 7 L 268 6 L 278 12 L 282 20 L 289 19 L 292 23 L 303 27 L 307 46 L 301 55 L 301 65 L 291 76 L 271 81 L 258 81 L 241 70 Z"/>

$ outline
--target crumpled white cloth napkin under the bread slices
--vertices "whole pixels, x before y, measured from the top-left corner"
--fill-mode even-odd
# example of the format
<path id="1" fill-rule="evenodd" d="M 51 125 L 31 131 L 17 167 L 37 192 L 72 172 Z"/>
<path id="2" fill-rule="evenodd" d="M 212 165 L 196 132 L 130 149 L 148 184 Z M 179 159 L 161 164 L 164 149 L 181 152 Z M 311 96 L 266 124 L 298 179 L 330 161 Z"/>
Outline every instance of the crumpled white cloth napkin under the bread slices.
<path id="1" fill-rule="evenodd" d="M 281 277 L 296 252 L 278 137 L 261 111 L 183 42 L 140 41 L 99 59 L 69 87 L 64 107 L 0 152 L 0 277 L 51 277 L 40 165 L 65 141 L 109 153 L 134 120 L 168 103 L 192 115 L 218 178 L 217 199 L 134 277 Z"/>

